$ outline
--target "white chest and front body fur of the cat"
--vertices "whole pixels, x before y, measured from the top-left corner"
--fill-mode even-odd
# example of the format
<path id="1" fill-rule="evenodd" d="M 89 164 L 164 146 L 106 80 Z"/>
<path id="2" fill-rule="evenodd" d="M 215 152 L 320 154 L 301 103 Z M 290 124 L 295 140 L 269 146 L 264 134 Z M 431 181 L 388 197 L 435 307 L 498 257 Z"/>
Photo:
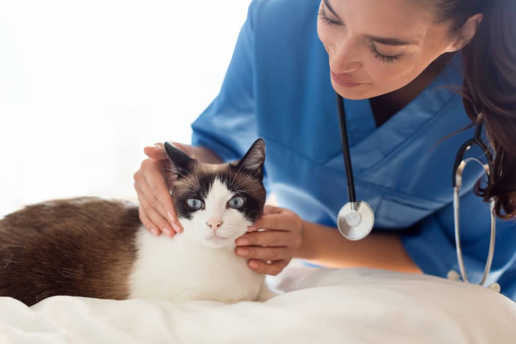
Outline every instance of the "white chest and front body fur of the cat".
<path id="1" fill-rule="evenodd" d="M 136 236 L 138 257 L 130 275 L 131 298 L 170 301 L 250 301 L 258 296 L 264 275 L 247 267 L 232 249 L 213 249 L 190 240 L 155 237 L 143 227 Z"/>

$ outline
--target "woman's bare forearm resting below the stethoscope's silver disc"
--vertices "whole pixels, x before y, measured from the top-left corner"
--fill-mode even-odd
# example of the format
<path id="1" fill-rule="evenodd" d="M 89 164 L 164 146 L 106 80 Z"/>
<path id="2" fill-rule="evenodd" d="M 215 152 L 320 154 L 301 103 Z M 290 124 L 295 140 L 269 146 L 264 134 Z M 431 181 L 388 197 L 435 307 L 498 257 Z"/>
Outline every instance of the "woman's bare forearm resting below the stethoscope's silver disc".
<path id="1" fill-rule="evenodd" d="M 351 241 L 335 228 L 304 221 L 302 236 L 297 256 L 315 264 L 422 273 L 397 235 L 371 233 L 362 240 Z"/>

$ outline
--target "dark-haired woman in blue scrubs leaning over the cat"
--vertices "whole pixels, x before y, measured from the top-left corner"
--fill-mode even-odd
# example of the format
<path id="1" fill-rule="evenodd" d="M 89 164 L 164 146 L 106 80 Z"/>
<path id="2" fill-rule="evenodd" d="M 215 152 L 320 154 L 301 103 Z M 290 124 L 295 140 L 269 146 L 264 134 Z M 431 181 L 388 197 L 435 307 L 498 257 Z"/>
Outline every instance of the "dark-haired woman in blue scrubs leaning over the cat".
<path id="1" fill-rule="evenodd" d="M 475 193 L 494 197 L 488 282 L 516 299 L 515 16 L 513 0 L 253 1 L 220 94 L 192 124 L 192 146 L 181 145 L 217 163 L 238 159 L 257 137 L 266 141 L 266 187 L 290 210 L 267 208 L 255 227 L 271 231 L 250 228 L 235 254 L 265 274 L 292 257 L 439 276 L 458 270 L 451 171 L 472 121 L 482 120 L 492 185 L 475 189 L 482 171 L 465 170 L 464 264 L 480 280 L 490 215 Z M 357 195 L 376 215 L 360 241 L 335 230 L 347 202 L 335 92 L 345 99 Z M 134 175 L 140 219 L 173 236 L 181 225 L 159 170 L 166 155 L 160 145 L 145 152 Z"/>

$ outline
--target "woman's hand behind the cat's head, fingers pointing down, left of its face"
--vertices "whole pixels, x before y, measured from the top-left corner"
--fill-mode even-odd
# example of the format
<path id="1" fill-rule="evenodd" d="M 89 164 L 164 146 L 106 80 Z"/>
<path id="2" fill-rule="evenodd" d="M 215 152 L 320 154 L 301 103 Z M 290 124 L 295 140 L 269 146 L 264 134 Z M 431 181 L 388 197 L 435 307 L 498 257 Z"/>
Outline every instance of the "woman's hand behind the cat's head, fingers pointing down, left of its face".
<path id="1" fill-rule="evenodd" d="M 193 147 L 173 142 L 175 146 L 193 158 Z M 140 221 L 156 236 L 162 232 L 169 237 L 183 232 L 172 202 L 170 189 L 175 176 L 167 173 L 172 165 L 163 143 L 144 148 L 149 158 L 143 160 L 134 174 L 134 188 L 138 194 Z"/>

